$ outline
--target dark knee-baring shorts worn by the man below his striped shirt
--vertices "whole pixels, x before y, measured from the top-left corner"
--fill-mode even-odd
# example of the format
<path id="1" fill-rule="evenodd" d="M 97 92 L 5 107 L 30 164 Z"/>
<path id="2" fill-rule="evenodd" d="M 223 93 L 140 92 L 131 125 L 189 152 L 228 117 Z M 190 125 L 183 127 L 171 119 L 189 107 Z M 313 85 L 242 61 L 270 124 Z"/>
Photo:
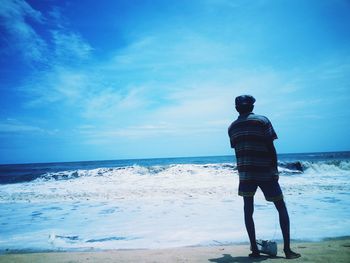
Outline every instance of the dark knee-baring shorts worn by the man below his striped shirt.
<path id="1" fill-rule="evenodd" d="M 238 187 L 238 195 L 244 197 L 254 196 L 258 186 L 264 193 L 266 201 L 275 202 L 283 199 L 282 190 L 278 183 L 278 180 L 240 181 Z"/>

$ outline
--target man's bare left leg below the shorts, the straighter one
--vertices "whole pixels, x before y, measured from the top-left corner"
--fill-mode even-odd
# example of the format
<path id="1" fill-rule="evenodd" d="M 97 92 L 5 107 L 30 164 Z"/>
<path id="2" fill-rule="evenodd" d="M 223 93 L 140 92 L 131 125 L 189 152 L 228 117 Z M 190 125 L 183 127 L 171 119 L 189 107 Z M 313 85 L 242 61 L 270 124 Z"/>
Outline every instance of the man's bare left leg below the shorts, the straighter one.
<path id="1" fill-rule="evenodd" d="M 249 256 L 259 256 L 258 247 L 256 245 L 256 238 L 255 238 L 255 225 L 253 220 L 253 213 L 254 213 L 254 196 L 244 196 L 244 222 L 245 227 L 248 232 L 250 246 L 252 250 L 252 254 Z"/>

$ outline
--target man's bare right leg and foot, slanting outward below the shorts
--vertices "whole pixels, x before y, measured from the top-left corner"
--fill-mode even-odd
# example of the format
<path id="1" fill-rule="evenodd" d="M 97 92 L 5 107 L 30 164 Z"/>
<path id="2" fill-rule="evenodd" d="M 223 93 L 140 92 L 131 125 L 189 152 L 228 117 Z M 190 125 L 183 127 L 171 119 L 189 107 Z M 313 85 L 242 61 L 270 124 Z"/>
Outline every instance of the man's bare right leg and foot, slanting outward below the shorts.
<path id="1" fill-rule="evenodd" d="M 298 258 L 300 257 L 300 254 L 295 253 L 290 249 L 289 216 L 288 216 L 286 204 L 283 199 L 275 201 L 274 204 L 279 214 L 280 226 L 281 226 L 283 241 L 284 241 L 283 251 L 286 254 L 286 258 L 289 258 L 289 259 Z"/>

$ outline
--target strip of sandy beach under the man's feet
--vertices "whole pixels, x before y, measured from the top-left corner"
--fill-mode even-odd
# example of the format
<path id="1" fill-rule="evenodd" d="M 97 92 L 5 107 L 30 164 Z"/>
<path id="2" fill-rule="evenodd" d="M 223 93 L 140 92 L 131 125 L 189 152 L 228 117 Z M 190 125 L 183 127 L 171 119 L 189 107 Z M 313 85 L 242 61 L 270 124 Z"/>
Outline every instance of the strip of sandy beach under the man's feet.
<path id="1" fill-rule="evenodd" d="M 350 262 L 350 238 L 321 242 L 293 243 L 292 248 L 302 254 L 293 262 Z M 184 247 L 149 250 L 109 250 L 103 252 L 50 252 L 4 254 L 0 262 L 285 262 L 282 244 L 278 244 L 277 257 L 251 259 L 248 245 Z"/>

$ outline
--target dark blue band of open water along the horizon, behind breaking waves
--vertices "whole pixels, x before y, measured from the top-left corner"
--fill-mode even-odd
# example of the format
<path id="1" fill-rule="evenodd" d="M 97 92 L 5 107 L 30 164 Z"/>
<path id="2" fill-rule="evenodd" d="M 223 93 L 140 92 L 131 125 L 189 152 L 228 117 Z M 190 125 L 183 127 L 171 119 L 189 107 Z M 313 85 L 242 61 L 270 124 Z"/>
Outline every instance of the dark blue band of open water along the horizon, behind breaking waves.
<path id="1" fill-rule="evenodd" d="M 350 160 L 350 152 L 324 152 L 324 153 L 292 153 L 279 154 L 279 165 L 288 169 L 302 170 L 303 162 L 336 162 Z M 90 170 L 96 168 L 117 168 L 133 165 L 139 166 L 165 166 L 171 164 L 215 164 L 235 163 L 235 157 L 204 156 L 204 157 L 178 157 L 153 159 L 127 159 L 84 162 L 59 163 L 32 163 L 32 164 L 5 164 L 0 165 L 0 184 L 11 184 L 32 181 L 47 173 L 57 173 L 74 170 Z"/>

